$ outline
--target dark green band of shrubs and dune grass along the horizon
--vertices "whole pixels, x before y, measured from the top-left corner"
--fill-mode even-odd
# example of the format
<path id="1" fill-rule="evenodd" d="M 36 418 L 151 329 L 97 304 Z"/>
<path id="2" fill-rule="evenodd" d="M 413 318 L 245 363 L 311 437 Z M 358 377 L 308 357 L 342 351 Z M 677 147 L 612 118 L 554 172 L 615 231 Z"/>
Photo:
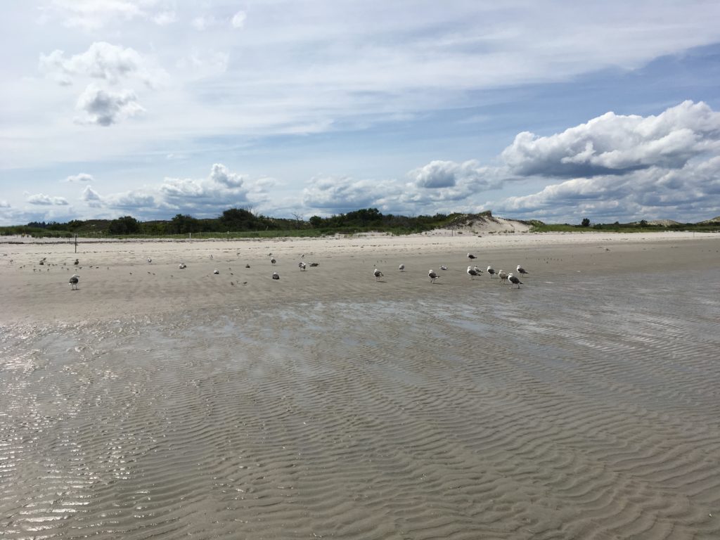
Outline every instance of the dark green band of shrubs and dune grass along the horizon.
<path id="1" fill-rule="evenodd" d="M 492 212 L 480 214 L 436 214 L 402 216 L 382 214 L 377 208 L 363 208 L 330 217 L 314 215 L 309 220 L 296 215 L 283 219 L 256 215 L 249 210 L 230 208 L 212 219 L 198 219 L 178 214 L 171 220 L 140 222 L 132 216 L 115 220 L 72 220 L 67 223 L 30 222 L 27 225 L 0 227 L 0 235 L 29 235 L 37 238 L 278 238 L 287 236 L 323 236 L 377 231 L 392 235 L 423 233 L 438 228 L 461 228 L 478 219 L 492 219 Z M 719 220 L 720 221 L 720 220 Z M 531 231 L 577 232 L 605 230 L 616 233 L 652 232 L 656 230 L 717 231 L 720 222 L 675 223 L 655 225 L 641 220 L 630 223 L 595 223 L 585 217 L 579 225 L 548 225 L 541 221 L 526 222 Z M 461 233 L 462 231 L 458 231 Z"/>

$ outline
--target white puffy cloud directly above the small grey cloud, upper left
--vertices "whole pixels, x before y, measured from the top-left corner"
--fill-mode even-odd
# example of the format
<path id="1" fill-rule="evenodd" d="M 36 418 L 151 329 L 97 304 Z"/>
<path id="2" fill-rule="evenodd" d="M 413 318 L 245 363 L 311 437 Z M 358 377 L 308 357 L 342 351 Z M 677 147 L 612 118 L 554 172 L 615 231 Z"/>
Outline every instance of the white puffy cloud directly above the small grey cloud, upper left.
<path id="1" fill-rule="evenodd" d="M 77 55 L 66 56 L 62 50 L 40 55 L 40 71 L 59 84 L 70 85 L 78 76 L 99 78 L 115 84 L 123 78 L 138 78 L 156 86 L 166 74 L 150 65 L 138 51 L 100 41 Z"/>

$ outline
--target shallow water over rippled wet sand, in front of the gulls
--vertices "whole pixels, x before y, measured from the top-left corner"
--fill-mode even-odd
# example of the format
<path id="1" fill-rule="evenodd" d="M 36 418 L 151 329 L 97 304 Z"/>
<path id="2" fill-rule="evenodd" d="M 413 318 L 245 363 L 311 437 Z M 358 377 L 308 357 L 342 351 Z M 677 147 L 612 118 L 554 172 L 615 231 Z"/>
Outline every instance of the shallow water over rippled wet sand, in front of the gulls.
<path id="1" fill-rule="evenodd" d="M 0 537 L 717 538 L 690 278 L 3 328 Z"/>

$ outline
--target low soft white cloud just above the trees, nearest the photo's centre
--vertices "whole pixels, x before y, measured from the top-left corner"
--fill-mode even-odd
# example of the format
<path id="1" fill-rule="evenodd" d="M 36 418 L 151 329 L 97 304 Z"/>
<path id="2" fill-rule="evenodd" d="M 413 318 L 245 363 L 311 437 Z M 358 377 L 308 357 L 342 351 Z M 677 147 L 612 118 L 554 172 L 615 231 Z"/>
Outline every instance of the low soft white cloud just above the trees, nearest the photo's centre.
<path id="1" fill-rule="evenodd" d="M 344 213 L 359 208 L 378 207 L 387 210 L 402 192 L 393 182 L 356 180 L 325 176 L 312 179 L 302 191 L 302 204 L 326 213 Z"/>

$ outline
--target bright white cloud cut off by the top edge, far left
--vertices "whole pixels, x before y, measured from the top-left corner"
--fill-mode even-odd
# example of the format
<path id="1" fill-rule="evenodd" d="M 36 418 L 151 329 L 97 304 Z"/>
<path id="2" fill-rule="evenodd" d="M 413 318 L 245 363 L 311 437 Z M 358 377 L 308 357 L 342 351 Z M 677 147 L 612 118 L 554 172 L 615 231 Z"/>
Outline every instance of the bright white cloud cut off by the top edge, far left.
<path id="1" fill-rule="evenodd" d="M 163 24 L 162 15 L 168 13 L 163 7 L 166 4 L 158 0 L 51 0 L 45 7 L 45 17 L 59 17 L 66 26 L 84 30 L 138 17 Z"/>

